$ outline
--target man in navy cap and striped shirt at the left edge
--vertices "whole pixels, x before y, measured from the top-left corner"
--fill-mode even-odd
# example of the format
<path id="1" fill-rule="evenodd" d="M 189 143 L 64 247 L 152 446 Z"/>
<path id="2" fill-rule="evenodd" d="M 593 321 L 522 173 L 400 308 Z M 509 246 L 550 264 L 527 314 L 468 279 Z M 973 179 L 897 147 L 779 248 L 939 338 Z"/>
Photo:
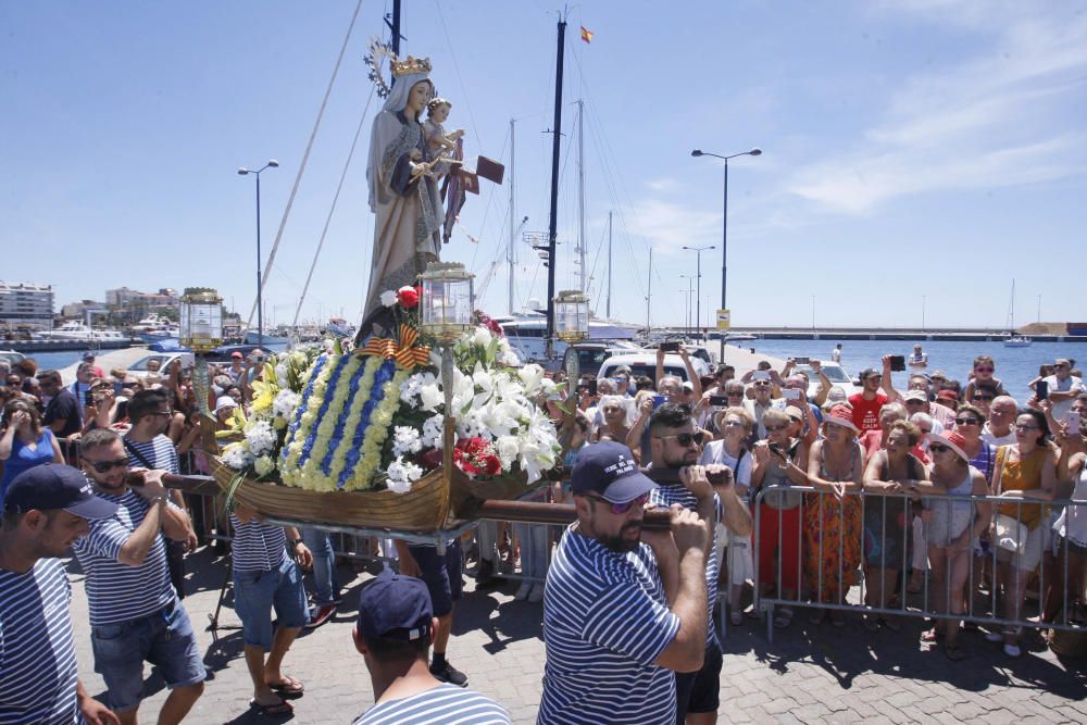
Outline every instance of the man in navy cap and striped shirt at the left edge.
<path id="1" fill-rule="evenodd" d="M 77 677 L 72 587 L 58 559 L 90 530 L 88 518 L 116 509 L 66 465 L 35 466 L 9 487 L 0 523 L 0 723 L 120 723 Z"/>

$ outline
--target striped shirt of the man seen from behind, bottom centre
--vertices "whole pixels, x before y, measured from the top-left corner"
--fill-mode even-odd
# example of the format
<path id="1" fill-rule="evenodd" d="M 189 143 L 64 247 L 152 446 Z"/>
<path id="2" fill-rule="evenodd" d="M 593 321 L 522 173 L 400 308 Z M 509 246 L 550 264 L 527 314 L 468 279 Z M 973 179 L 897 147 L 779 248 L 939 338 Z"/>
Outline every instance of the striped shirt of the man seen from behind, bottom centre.
<path id="1" fill-rule="evenodd" d="M 490 698 L 448 683 L 418 695 L 379 702 L 351 725 L 510 725 L 505 709 Z"/>

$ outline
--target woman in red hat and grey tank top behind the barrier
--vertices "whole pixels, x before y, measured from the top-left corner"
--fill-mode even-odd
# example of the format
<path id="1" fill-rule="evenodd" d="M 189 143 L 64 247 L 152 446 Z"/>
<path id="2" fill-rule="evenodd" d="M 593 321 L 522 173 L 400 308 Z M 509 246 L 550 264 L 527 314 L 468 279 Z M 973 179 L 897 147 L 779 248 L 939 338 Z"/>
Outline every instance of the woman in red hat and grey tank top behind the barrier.
<path id="1" fill-rule="evenodd" d="M 925 508 L 929 512 L 925 525 L 928 541 L 928 563 L 933 567 L 936 589 L 936 612 L 961 615 L 966 604 L 966 579 L 970 577 L 973 541 L 985 530 L 992 516 L 992 505 L 988 501 L 969 500 L 970 496 L 987 496 L 989 488 L 985 476 L 970 464 L 970 455 L 963 450 L 961 433 L 951 430 L 940 435 L 929 434 L 928 451 L 933 457 L 932 485 L 926 495 L 944 498 L 926 498 Z M 963 499 L 963 500 L 954 500 Z M 927 603 L 926 603 L 927 604 Z M 925 642 L 935 642 L 945 637 L 944 653 L 953 661 L 965 654 L 959 649 L 959 620 L 944 620 L 921 636 Z"/>

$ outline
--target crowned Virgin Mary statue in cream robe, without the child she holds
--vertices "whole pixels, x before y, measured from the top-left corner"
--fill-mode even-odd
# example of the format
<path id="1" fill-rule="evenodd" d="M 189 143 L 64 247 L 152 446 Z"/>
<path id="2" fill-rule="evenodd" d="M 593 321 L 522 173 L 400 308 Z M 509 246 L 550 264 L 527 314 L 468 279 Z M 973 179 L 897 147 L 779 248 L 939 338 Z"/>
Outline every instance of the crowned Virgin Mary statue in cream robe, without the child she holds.
<path id="1" fill-rule="evenodd" d="M 376 216 L 364 317 L 380 307 L 382 292 L 413 284 L 441 248 L 441 199 L 420 123 L 434 98 L 429 71 L 427 59 L 393 61 L 392 89 L 374 118 L 366 180 Z"/>

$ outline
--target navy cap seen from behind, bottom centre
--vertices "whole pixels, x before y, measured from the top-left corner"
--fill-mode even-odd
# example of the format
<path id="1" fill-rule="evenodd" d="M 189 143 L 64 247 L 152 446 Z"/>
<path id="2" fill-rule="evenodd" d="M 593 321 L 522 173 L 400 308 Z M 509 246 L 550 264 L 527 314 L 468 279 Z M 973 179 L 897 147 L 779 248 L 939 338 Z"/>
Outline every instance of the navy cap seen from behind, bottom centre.
<path id="1" fill-rule="evenodd" d="M 371 639 L 429 642 L 433 620 L 430 592 L 414 576 L 383 572 L 359 599 L 359 634 Z"/>

